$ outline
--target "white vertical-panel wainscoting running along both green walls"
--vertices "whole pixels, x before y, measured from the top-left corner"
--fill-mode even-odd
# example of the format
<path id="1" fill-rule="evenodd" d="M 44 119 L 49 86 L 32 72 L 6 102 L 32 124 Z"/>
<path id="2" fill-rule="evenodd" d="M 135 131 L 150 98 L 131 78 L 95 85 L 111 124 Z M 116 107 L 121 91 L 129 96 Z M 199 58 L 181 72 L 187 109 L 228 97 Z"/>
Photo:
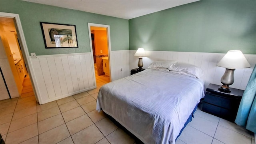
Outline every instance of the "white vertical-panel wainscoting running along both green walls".
<path id="1" fill-rule="evenodd" d="M 138 57 L 133 56 L 136 50 L 119 50 L 110 52 L 111 80 L 130 76 L 130 70 L 137 68 Z M 158 60 L 176 60 L 199 66 L 204 70 L 205 88 L 209 83 L 219 84 L 225 68 L 216 66 L 224 54 L 202 52 L 166 52 L 146 51 L 143 58 L 147 68 L 151 62 Z M 244 90 L 250 74 L 256 64 L 255 54 L 245 54 L 251 68 L 236 69 L 235 82 L 232 88 Z M 92 54 L 58 54 L 31 58 L 32 69 L 36 78 L 36 91 L 40 104 L 72 96 L 96 88 Z M 122 70 L 121 70 L 122 69 Z"/>

